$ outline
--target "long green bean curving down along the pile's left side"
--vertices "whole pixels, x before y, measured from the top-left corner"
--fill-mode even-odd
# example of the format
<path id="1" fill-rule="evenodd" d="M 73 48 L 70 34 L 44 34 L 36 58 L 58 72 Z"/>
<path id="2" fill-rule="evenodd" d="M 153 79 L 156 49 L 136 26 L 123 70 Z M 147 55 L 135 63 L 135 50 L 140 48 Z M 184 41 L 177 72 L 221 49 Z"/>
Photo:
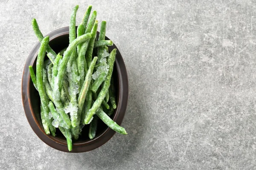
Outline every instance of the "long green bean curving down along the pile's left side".
<path id="1" fill-rule="evenodd" d="M 41 45 L 38 51 L 38 58 L 36 61 L 36 82 L 38 86 L 38 92 L 41 99 L 42 107 L 44 110 L 44 117 L 47 120 L 47 125 L 52 136 L 55 136 L 55 127 L 52 126 L 51 119 L 48 119 L 49 108 L 48 108 L 48 98 L 47 94 L 44 91 L 44 82 L 43 82 L 43 66 L 44 66 L 44 56 L 46 52 L 47 45 L 49 43 L 49 36 L 44 37 L 41 41 Z"/>

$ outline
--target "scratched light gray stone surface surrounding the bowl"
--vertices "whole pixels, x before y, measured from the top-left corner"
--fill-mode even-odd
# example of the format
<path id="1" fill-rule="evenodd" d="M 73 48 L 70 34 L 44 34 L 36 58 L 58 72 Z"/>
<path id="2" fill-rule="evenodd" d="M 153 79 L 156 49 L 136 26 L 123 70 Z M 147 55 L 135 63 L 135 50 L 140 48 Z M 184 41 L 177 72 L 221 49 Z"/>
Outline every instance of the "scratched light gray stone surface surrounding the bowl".
<path id="1" fill-rule="evenodd" d="M 107 21 L 129 76 L 122 126 L 102 147 L 63 153 L 23 112 L 21 77 L 44 34 L 87 5 Z M 0 0 L 0 169 L 256 169 L 256 1 Z"/>

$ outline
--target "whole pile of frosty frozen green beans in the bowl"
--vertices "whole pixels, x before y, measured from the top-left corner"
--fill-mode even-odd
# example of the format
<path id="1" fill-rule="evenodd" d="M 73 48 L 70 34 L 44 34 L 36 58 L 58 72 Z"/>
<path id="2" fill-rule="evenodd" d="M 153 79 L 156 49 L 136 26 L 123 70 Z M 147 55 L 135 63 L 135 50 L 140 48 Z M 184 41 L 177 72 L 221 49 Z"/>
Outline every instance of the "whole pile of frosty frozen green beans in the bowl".
<path id="1" fill-rule="evenodd" d="M 101 23 L 97 40 L 97 12 L 93 11 L 90 17 L 92 6 L 88 6 L 76 29 L 78 8 L 73 8 L 70 18 L 69 45 L 59 53 L 49 46 L 49 36 L 44 37 L 37 21 L 32 20 L 41 45 L 36 71 L 29 66 L 32 82 L 41 99 L 44 131 L 55 136 L 56 128 L 59 128 L 67 139 L 69 151 L 72 150 L 72 141 L 79 139 L 84 126 L 89 127 L 88 137 L 94 139 L 99 121 L 118 133 L 127 134 L 109 117 L 116 109 L 112 77 L 116 49 L 108 51 L 107 46 L 113 42 L 105 40 L 106 21 Z"/>

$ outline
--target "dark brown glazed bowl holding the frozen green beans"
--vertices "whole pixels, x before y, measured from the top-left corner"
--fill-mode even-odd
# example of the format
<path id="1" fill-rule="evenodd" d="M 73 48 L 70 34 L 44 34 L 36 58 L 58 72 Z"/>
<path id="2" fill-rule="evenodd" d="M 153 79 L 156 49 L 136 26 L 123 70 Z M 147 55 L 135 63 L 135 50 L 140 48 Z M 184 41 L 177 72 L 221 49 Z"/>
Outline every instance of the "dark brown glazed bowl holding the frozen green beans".
<path id="1" fill-rule="evenodd" d="M 99 32 L 97 32 L 99 36 Z M 55 52 L 61 51 L 69 44 L 69 27 L 64 27 L 52 31 L 47 34 L 50 38 L 49 45 Z M 106 40 L 109 40 L 108 37 L 105 37 Z M 40 42 L 38 42 L 32 51 L 29 54 L 29 57 L 26 60 L 26 64 L 22 76 L 22 102 L 23 108 L 28 119 L 29 125 L 34 130 L 35 134 L 50 147 L 53 147 L 57 150 L 64 152 L 69 152 L 67 149 L 67 142 L 65 137 L 61 132 L 56 129 L 56 136 L 47 135 L 44 132 L 44 128 L 41 124 L 40 117 L 40 98 L 38 91 L 36 91 L 32 80 L 29 74 L 29 65 L 33 66 L 35 71 L 36 59 L 38 54 L 38 49 L 40 47 Z M 116 105 L 117 108 L 114 111 L 111 118 L 118 124 L 121 125 L 122 119 L 125 116 L 125 111 L 128 102 L 128 76 L 125 68 L 124 60 L 120 54 L 118 48 L 115 44 L 109 46 L 109 51 L 112 51 L 113 48 L 116 48 L 116 61 L 113 70 L 113 78 L 116 87 Z M 47 58 L 47 56 L 45 57 Z M 88 128 L 89 126 L 84 126 L 81 136 L 76 142 L 73 142 L 73 153 L 87 152 L 93 149 L 96 149 L 113 137 L 115 131 L 106 126 L 102 121 L 98 122 L 98 129 L 96 137 L 93 140 L 90 140 L 88 137 Z"/>

